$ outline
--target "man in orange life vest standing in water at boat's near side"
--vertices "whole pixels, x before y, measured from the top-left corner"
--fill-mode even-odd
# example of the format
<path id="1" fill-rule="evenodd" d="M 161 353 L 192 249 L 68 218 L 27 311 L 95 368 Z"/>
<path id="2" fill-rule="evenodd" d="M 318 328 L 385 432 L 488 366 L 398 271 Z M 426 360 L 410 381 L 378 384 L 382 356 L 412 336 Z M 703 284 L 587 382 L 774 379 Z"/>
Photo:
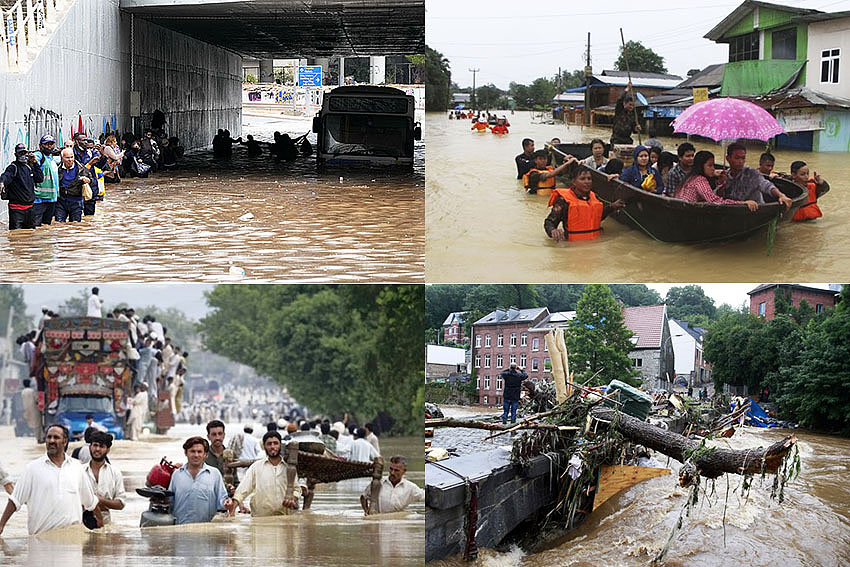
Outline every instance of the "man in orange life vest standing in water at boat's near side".
<path id="1" fill-rule="evenodd" d="M 555 242 L 593 240 L 602 231 L 602 220 L 626 204 L 618 199 L 606 205 L 597 199 L 591 191 L 593 175 L 586 167 L 573 168 L 570 178 L 570 187 L 552 190 L 549 196 L 552 210 L 543 221 L 543 229 Z"/>

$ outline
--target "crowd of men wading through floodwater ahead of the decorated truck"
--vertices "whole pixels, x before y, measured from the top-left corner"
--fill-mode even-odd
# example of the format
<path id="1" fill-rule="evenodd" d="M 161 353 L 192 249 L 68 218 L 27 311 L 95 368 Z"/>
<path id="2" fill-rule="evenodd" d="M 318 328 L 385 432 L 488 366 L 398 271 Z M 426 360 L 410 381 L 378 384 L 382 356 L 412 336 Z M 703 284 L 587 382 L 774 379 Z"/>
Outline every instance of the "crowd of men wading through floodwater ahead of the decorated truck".
<path id="1" fill-rule="evenodd" d="M 379 456 L 377 437 L 365 428 L 355 428 L 350 450 L 343 455 L 338 441 L 349 437 L 343 421 L 293 421 L 285 431 L 272 423 L 261 441 L 250 426 L 228 440 L 225 427 L 223 422 L 212 420 L 206 424 L 206 438 L 193 436 L 183 443 L 185 463 L 175 465 L 168 486 L 161 486 L 173 494 L 170 513 L 175 524 L 210 522 L 217 514 L 233 516 L 237 510 L 265 517 L 310 508 L 314 485 L 290 474 L 282 456 L 289 442 L 304 441 L 303 437 L 295 438 L 296 430 L 326 442 L 325 456 L 331 459 L 372 462 Z M 370 436 L 374 437 L 372 441 L 368 440 Z M 23 506 L 27 506 L 30 535 L 80 523 L 97 529 L 111 523 L 111 511 L 124 508 L 127 497 L 123 475 L 108 458 L 112 435 L 92 424 L 86 430 L 84 450 L 71 455 L 67 454 L 70 441 L 68 429 L 50 425 L 45 432 L 46 454 L 27 464 L 17 482 L 0 465 L 0 485 L 10 495 L 0 516 L 0 536 Z M 235 476 L 236 469 L 226 466 L 234 460 L 250 464 Z M 398 512 L 413 502 L 424 501 L 425 491 L 404 478 L 404 456 L 391 457 L 388 471 L 377 493 L 367 487 L 360 495 L 366 515 Z"/>

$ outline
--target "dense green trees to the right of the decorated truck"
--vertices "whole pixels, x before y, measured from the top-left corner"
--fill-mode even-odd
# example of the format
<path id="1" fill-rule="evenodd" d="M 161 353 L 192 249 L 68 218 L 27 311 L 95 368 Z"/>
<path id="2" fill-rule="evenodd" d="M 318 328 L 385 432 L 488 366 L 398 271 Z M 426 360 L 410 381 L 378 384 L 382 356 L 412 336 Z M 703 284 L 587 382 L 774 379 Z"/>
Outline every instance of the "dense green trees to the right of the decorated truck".
<path id="1" fill-rule="evenodd" d="M 422 286 L 217 286 L 201 321 L 210 350 L 287 386 L 314 411 L 380 413 L 422 427 Z"/>

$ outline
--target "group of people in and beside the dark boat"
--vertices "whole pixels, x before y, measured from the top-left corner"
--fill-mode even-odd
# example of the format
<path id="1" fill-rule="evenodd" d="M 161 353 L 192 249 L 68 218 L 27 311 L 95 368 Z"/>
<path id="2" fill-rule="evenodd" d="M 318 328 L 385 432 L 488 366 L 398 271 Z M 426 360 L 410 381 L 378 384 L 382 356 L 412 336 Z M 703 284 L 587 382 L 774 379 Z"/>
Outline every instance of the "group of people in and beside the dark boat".
<path id="1" fill-rule="evenodd" d="M 534 140 L 525 138 L 523 152 L 515 158 L 517 179 L 522 180 L 529 193 L 551 190 L 551 209 L 544 220 L 546 234 L 555 241 L 596 238 L 601 233 L 602 220 L 625 206 L 623 201 L 603 204 L 596 198 L 591 169 L 606 174 L 609 180 L 619 178 L 647 192 L 689 202 L 743 204 L 750 211 L 770 202 L 779 202 L 786 210 L 791 208 L 791 199 L 772 181 L 782 176 L 808 192 L 807 202 L 794 213 L 792 220 L 811 220 L 823 215 L 817 199 L 829 190 L 829 184 L 816 171 L 810 172 L 803 161 L 792 162 L 790 174 L 776 173 L 775 157 L 765 152 L 759 158 L 758 169 L 747 167 L 747 148 L 732 143 L 726 148 L 728 168 L 718 168 L 712 152 L 697 152 L 690 142 L 679 144 L 675 154 L 667 152 L 654 139 L 654 133 L 650 134 L 653 137 L 647 140 L 648 145 L 634 148 L 633 163 L 628 167 L 624 167 L 621 159 L 605 157 L 605 143 L 601 139 L 591 141 L 592 153 L 586 159 L 564 155 L 561 165 L 556 167 L 554 154 L 560 140 L 547 142 L 545 150 L 535 150 Z M 557 186 L 561 175 L 569 178 L 566 187 Z"/>

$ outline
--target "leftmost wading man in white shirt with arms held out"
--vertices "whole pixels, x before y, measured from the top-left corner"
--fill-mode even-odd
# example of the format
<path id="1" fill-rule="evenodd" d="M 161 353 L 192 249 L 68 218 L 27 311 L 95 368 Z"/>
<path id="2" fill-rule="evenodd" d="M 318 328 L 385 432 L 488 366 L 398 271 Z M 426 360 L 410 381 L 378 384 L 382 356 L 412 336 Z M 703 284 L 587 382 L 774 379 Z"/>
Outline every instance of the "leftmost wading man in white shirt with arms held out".
<path id="1" fill-rule="evenodd" d="M 45 447 L 47 455 L 26 466 L 12 491 L 0 517 L 0 535 L 12 514 L 25 504 L 30 535 L 79 524 L 84 507 L 100 518 L 97 496 L 86 480 L 83 465 L 65 454 L 68 430 L 51 425 L 45 435 Z"/>

